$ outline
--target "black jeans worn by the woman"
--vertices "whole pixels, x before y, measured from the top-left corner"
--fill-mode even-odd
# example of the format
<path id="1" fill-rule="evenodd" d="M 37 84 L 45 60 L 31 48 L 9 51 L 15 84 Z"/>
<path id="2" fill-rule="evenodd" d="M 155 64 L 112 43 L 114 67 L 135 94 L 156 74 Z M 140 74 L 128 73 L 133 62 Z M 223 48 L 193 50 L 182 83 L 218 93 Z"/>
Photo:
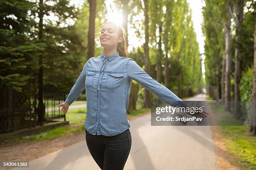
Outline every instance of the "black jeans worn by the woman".
<path id="1" fill-rule="evenodd" d="M 131 150 L 129 129 L 114 136 L 92 135 L 85 130 L 87 147 L 101 170 L 123 170 Z"/>

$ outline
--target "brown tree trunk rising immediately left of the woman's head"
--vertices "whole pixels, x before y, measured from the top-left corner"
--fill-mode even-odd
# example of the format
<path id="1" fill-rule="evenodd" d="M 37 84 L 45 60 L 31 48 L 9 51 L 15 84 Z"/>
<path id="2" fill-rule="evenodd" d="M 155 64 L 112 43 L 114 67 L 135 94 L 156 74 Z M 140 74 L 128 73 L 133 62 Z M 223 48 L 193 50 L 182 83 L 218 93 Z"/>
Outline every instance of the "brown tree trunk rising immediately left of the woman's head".
<path id="1" fill-rule="evenodd" d="M 95 16 L 96 16 L 96 0 L 89 0 L 90 16 L 89 16 L 89 30 L 88 30 L 88 50 L 87 60 L 94 56 L 94 45 L 95 45 Z"/>

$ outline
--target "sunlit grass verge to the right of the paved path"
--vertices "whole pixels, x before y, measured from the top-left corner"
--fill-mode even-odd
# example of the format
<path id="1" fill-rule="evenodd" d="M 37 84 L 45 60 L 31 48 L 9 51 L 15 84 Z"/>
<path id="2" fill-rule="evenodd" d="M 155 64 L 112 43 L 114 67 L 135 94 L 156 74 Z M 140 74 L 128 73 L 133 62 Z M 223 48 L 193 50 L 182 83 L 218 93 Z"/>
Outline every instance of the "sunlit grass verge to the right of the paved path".
<path id="1" fill-rule="evenodd" d="M 212 107 L 213 112 L 226 112 L 224 107 Z M 237 126 L 230 126 L 231 122 Z M 238 126 L 241 124 L 235 118 L 225 118 L 220 120 L 220 133 L 228 153 L 234 155 L 237 159 L 232 161 L 233 165 L 242 169 L 256 170 L 256 136 L 250 135 L 247 126 Z M 225 125 L 229 124 L 229 125 Z"/>

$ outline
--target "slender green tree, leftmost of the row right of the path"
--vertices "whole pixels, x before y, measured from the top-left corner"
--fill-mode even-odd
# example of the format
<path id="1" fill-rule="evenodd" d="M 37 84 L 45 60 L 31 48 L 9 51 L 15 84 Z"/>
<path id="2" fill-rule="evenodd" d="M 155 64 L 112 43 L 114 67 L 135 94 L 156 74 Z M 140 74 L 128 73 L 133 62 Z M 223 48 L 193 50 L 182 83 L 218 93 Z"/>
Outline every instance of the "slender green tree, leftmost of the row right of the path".
<path id="1" fill-rule="evenodd" d="M 220 93 L 223 92 L 224 80 L 221 81 L 223 88 L 220 85 L 221 77 L 224 77 L 225 58 L 223 43 L 223 25 L 221 24 L 221 15 L 218 13 L 218 7 L 213 0 L 205 0 L 203 7 L 203 25 L 202 31 L 205 35 L 205 79 L 207 81 L 207 92 L 214 100 L 221 98 Z M 221 60 L 222 67 L 221 68 Z M 221 92 L 220 92 L 221 90 Z"/>

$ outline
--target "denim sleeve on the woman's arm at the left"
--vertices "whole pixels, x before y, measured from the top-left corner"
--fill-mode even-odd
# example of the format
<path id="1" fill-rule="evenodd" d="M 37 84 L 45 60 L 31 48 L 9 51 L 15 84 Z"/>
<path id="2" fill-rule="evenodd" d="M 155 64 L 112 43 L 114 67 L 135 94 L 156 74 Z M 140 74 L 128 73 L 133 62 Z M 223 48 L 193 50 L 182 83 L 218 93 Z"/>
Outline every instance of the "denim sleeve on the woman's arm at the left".
<path id="1" fill-rule="evenodd" d="M 87 62 L 85 63 L 85 65 L 82 69 L 82 72 L 80 73 L 79 77 L 77 78 L 77 81 L 73 85 L 72 89 L 69 92 L 67 99 L 65 100 L 65 102 L 68 105 L 71 105 L 74 101 L 76 101 L 77 98 L 82 94 L 82 92 L 85 89 L 85 78 L 86 78 L 85 72 L 87 71 L 88 62 L 89 62 L 89 60 L 87 60 Z"/>

